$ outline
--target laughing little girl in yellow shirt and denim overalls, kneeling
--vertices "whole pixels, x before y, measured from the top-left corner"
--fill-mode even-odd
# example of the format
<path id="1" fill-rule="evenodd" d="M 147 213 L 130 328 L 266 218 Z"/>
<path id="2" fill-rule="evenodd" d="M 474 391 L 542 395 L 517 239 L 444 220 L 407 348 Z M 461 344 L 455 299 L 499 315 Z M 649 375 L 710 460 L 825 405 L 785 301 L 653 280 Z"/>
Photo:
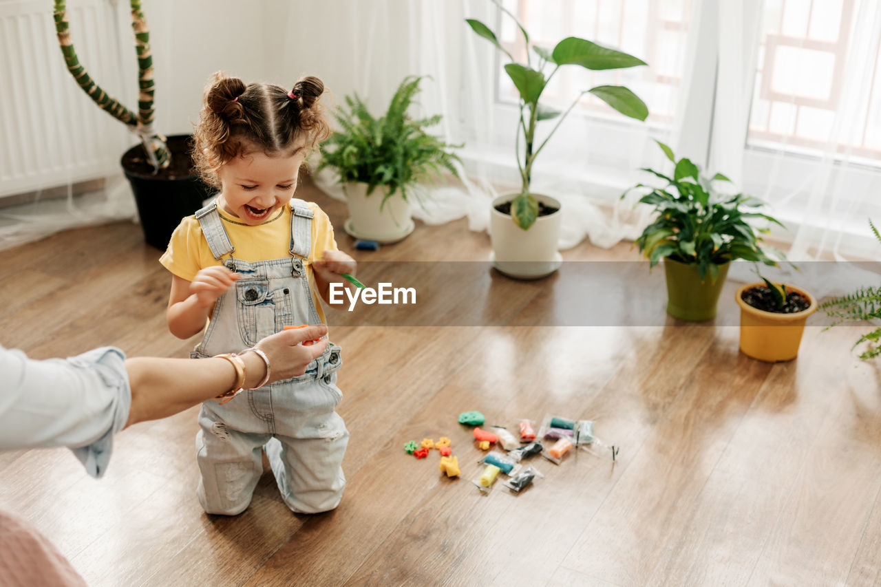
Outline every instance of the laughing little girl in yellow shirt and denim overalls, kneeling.
<path id="1" fill-rule="evenodd" d="M 181 221 L 159 259 L 173 273 L 169 330 L 189 338 L 210 318 L 193 357 L 241 353 L 285 325 L 324 323 L 318 295 L 329 303 L 330 283 L 355 269 L 337 250 L 327 215 L 292 198 L 307 152 L 329 134 L 316 103 L 323 91 L 318 78 L 301 78 L 289 92 L 222 72 L 205 88 L 195 159 L 219 193 Z M 334 412 L 343 398 L 340 365 L 340 347 L 330 343 L 304 375 L 204 402 L 196 450 L 206 512 L 234 516 L 248 507 L 261 450 L 290 509 L 337 507 L 349 440 Z"/>

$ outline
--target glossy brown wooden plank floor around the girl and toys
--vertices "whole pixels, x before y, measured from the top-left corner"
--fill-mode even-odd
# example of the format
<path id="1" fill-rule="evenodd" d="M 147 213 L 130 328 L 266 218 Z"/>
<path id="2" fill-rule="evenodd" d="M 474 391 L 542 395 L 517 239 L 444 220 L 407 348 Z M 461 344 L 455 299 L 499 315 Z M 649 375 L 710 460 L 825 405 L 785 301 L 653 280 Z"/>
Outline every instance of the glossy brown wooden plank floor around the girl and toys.
<path id="1" fill-rule="evenodd" d="M 351 249 L 344 204 L 308 186 L 301 196 Z M 484 261 L 489 246 L 459 220 L 354 255 Z M 637 258 L 626 244 L 564 256 Z M 184 356 L 194 341 L 167 332 L 158 258 L 129 223 L 4 251 L 0 344 L 34 358 L 100 345 Z M 92 585 L 881 584 L 881 376 L 850 352 L 856 329 L 808 328 L 797 360 L 769 365 L 738 353 L 734 284 L 708 326 L 665 317 L 653 271 L 655 325 L 548 327 L 537 324 L 574 309 L 556 302 L 560 279 L 485 279 L 492 303 L 478 289 L 454 305 L 530 325 L 334 327 L 348 318 L 329 313 L 352 433 L 334 512 L 292 514 L 266 472 L 241 516 L 205 515 L 197 408 L 123 431 L 100 480 L 66 450 L 0 454 L 0 508 L 36 524 Z M 627 295 L 585 288 L 577 302 Z M 537 457 L 545 477 L 529 490 L 483 496 L 470 483 L 481 453 L 456 422 L 466 410 L 508 427 L 545 413 L 596 420 L 618 461 Z M 461 479 L 441 476 L 436 451 L 403 452 L 441 435 Z"/>

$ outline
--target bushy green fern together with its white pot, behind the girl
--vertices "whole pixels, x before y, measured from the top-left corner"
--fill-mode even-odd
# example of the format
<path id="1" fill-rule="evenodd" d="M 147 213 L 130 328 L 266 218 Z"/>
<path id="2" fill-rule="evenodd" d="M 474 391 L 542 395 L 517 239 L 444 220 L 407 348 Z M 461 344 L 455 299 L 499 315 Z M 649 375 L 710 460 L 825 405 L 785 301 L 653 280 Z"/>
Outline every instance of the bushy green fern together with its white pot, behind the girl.
<path id="1" fill-rule="evenodd" d="M 408 76 L 398 85 L 385 115 L 374 117 L 357 93 L 337 108 L 337 130 L 321 146 L 316 173 L 329 168 L 343 185 L 349 218 L 345 232 L 379 242 L 400 241 L 413 231 L 411 204 L 419 202 L 418 184 L 459 177 L 461 164 L 448 145 L 426 132 L 441 115 L 413 119 L 407 113 L 419 93 L 422 77 Z"/>

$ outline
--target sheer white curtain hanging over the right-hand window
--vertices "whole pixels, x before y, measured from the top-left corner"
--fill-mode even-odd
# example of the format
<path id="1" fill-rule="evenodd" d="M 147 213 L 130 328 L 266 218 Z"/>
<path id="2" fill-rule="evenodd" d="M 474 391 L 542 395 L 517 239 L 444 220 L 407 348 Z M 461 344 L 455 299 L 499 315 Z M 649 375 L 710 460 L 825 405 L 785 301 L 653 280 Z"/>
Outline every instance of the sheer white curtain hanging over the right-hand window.
<path id="1" fill-rule="evenodd" d="M 796 131 L 805 127 L 796 127 L 795 121 L 792 128 L 780 131 L 782 136 L 773 141 L 759 140 L 757 137 L 762 133 L 755 128 L 759 116 L 754 109 L 764 108 L 759 111 L 762 114 L 767 108 L 774 108 L 767 104 L 767 88 L 781 84 L 777 79 L 761 78 L 774 75 L 766 71 L 768 66 L 759 71 L 756 79 L 762 35 L 786 37 L 784 42 L 791 43 L 791 48 L 808 49 L 807 53 L 826 47 L 811 39 L 811 33 L 818 33 L 814 32 L 817 26 L 808 26 L 810 20 L 803 23 L 803 30 L 790 27 L 797 33 L 787 31 L 784 19 L 792 18 L 783 13 L 786 10 L 785 3 L 772 0 L 720 3 L 718 19 L 707 23 L 715 25 L 718 32 L 719 54 L 710 167 L 729 175 L 747 193 L 765 200 L 771 208 L 769 213 L 782 219 L 789 229 L 774 227 L 772 234 L 791 242 L 784 252 L 799 270 L 789 266 L 780 270 L 763 268 L 763 274 L 800 283 L 819 296 L 843 294 L 856 286 L 877 282 L 877 275 L 840 264 L 833 279 L 832 264 L 813 262 L 881 259 L 881 245 L 871 238 L 868 227 L 868 217 L 873 212 L 881 219 L 881 207 L 877 204 L 881 160 L 867 159 L 866 149 L 856 146 L 862 145 L 867 124 L 874 122 L 881 128 L 877 108 L 881 97 L 877 88 L 881 6 L 877 2 L 844 0 L 827 15 L 840 18 L 838 35 L 849 37 L 847 48 L 835 57 L 828 88 L 810 87 L 807 80 L 822 76 L 821 71 L 811 69 L 811 62 L 796 63 L 800 69 L 783 72 L 795 81 L 785 85 L 784 80 L 783 89 L 777 90 L 783 95 L 781 105 L 795 113 L 800 104 L 806 103 L 810 114 L 825 122 L 815 126 L 810 142 L 797 136 Z M 822 55 L 816 51 L 814 54 Z M 783 63 L 778 62 L 778 77 Z M 810 108 L 818 100 L 804 100 L 805 94 L 823 94 L 826 90 L 831 98 L 822 104 L 822 111 Z M 875 98 L 870 100 L 873 95 Z M 771 114 L 767 113 L 768 120 Z M 766 126 L 773 130 L 774 123 Z M 807 131 L 803 130 L 803 134 Z M 881 142 L 877 142 L 876 148 L 881 149 Z M 755 279 L 755 274 L 745 267 L 729 275 L 736 280 Z"/>

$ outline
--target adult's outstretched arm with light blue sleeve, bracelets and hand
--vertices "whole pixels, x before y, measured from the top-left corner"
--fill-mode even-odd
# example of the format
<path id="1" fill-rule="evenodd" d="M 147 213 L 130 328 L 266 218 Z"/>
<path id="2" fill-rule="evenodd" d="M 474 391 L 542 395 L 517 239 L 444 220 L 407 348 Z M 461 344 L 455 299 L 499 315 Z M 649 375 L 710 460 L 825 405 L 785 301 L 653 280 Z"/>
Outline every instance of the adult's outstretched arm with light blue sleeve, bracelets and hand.
<path id="1" fill-rule="evenodd" d="M 327 341 L 299 343 L 326 333 L 319 324 L 263 338 L 257 348 L 270 360 L 270 381 L 303 373 Z M 256 353 L 242 360 L 245 387 L 260 383 L 263 360 Z M 0 450 L 67 446 L 100 477 L 116 432 L 219 396 L 234 380 L 225 359 L 125 360 L 119 349 L 101 347 L 66 360 L 33 360 L 0 347 Z"/>

